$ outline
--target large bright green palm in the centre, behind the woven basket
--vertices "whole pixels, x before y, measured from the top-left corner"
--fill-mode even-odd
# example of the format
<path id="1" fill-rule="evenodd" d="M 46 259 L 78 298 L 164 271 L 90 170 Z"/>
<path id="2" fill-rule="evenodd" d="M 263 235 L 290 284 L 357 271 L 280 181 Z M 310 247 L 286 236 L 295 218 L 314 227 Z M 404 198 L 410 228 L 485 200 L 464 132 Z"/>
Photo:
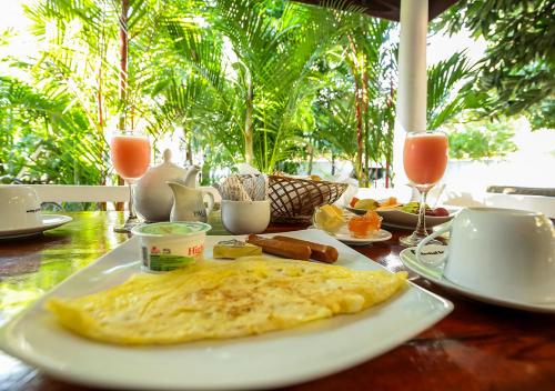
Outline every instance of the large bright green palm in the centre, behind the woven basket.
<path id="1" fill-rule="evenodd" d="M 214 116 L 226 121 L 213 128 L 233 133 L 241 157 L 271 172 L 302 141 L 305 119 L 297 114 L 315 93 L 311 67 L 337 31 L 327 10 L 287 2 L 270 13 L 265 7 L 219 0 L 200 22 L 185 14 L 169 19 L 167 28 L 181 59 L 213 92 Z"/>

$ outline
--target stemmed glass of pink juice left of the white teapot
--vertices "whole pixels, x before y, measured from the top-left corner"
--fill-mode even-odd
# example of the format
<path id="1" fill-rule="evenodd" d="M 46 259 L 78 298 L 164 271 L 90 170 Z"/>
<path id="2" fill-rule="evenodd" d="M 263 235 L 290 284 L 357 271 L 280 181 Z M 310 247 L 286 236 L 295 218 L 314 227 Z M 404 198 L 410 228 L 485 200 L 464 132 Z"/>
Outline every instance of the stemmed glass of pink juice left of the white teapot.
<path id="1" fill-rule="evenodd" d="M 115 227 L 115 232 L 131 232 L 139 224 L 133 207 L 133 183 L 141 178 L 150 164 L 150 141 L 144 133 L 115 131 L 110 140 L 111 159 L 115 172 L 129 186 L 129 215 L 125 223 Z"/>

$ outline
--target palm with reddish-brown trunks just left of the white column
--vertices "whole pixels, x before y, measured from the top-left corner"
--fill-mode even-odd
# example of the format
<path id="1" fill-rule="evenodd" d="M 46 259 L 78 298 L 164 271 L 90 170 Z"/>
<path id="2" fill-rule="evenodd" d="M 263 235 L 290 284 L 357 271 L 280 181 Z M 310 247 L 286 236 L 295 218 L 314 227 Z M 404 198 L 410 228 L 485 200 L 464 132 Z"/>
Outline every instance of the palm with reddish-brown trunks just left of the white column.
<path id="1" fill-rule="evenodd" d="M 313 102 L 315 146 L 353 163 L 361 186 L 372 168 L 392 161 L 396 74 L 393 24 L 360 13 L 342 16 L 349 26 L 319 63 L 323 81 Z"/>

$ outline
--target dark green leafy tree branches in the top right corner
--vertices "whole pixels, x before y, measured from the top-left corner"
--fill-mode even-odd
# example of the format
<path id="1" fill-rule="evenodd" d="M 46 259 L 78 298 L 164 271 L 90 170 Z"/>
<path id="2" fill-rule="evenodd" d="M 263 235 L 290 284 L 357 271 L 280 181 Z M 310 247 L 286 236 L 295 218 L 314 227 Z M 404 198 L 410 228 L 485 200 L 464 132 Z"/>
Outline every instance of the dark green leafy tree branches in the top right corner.
<path id="1" fill-rule="evenodd" d="M 442 16 L 451 31 L 466 28 L 487 41 L 475 90 L 490 94 L 490 113 L 555 128 L 554 14 L 552 0 L 460 0 Z"/>

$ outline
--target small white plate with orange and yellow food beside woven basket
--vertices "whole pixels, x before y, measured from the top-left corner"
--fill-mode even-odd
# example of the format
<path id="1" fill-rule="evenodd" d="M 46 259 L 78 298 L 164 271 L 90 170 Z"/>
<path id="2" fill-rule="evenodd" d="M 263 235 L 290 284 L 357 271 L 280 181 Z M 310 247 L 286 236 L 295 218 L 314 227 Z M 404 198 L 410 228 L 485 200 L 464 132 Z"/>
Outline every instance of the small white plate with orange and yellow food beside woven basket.
<path id="1" fill-rule="evenodd" d="M 314 212 L 314 227 L 351 245 L 366 245 L 392 238 L 381 229 L 383 218 L 374 211 L 363 215 L 351 213 L 335 205 L 323 205 Z"/>

